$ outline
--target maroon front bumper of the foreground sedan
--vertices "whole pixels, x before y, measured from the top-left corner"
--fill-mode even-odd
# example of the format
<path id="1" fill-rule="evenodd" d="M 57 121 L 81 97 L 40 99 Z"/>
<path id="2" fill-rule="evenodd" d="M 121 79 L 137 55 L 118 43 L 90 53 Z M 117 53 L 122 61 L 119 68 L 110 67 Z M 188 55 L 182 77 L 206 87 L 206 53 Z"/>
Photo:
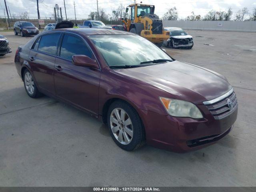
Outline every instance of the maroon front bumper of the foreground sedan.
<path id="1" fill-rule="evenodd" d="M 238 108 L 221 120 L 176 118 L 140 110 L 149 145 L 174 152 L 198 150 L 224 138 L 237 118 Z"/>

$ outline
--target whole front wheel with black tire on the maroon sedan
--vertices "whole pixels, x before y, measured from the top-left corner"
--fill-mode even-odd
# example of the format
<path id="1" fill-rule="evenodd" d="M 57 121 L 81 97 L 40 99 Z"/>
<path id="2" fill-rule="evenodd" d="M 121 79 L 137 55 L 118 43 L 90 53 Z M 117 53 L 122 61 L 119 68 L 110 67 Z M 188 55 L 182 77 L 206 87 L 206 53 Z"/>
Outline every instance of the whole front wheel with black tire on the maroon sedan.
<path id="1" fill-rule="evenodd" d="M 145 144 L 143 124 L 136 110 L 128 103 L 113 102 L 108 108 L 107 120 L 112 139 L 123 150 L 132 151 Z"/>

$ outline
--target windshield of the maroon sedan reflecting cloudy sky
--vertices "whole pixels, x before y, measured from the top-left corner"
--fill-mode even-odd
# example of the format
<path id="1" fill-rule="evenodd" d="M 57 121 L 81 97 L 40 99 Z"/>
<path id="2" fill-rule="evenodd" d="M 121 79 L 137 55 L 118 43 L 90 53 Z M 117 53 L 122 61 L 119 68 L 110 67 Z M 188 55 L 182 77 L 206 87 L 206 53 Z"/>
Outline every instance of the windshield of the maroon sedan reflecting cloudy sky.
<path id="1" fill-rule="evenodd" d="M 137 35 L 90 35 L 109 66 L 140 65 L 158 59 L 172 60 L 156 45 Z"/>

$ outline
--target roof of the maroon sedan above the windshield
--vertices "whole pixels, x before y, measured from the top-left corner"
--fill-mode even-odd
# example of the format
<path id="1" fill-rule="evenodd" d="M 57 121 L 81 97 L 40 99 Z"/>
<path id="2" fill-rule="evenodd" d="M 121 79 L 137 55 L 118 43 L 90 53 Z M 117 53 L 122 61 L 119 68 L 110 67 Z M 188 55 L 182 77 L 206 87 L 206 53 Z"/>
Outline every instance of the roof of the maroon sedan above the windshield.
<path id="1" fill-rule="evenodd" d="M 57 29 L 54 31 L 66 31 L 77 34 L 85 34 L 85 35 L 135 35 L 126 31 L 119 30 L 110 30 L 110 29 L 98 29 L 98 28 L 64 28 Z"/>

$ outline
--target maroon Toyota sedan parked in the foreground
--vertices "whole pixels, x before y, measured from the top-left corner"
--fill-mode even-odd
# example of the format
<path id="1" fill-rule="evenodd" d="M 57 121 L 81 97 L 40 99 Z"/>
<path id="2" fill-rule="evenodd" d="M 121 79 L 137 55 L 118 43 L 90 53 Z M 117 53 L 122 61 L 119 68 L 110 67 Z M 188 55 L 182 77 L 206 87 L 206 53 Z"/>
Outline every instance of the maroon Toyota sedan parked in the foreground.
<path id="1" fill-rule="evenodd" d="M 238 103 L 228 80 L 179 62 L 119 30 L 60 29 L 16 51 L 27 94 L 54 97 L 108 125 L 114 142 L 134 150 L 146 142 L 176 152 L 225 137 Z"/>

